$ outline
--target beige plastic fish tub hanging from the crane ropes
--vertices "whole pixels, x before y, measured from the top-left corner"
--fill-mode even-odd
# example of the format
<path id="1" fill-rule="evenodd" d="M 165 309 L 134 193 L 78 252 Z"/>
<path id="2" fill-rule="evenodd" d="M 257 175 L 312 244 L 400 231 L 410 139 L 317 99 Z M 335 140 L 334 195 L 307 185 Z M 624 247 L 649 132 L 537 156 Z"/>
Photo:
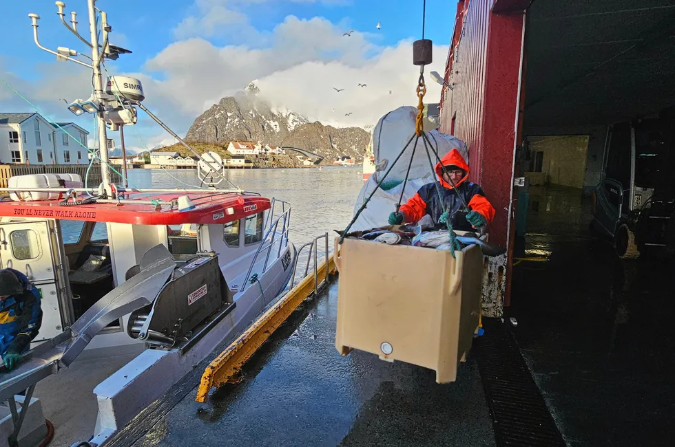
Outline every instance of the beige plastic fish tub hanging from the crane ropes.
<path id="1" fill-rule="evenodd" d="M 458 232 L 459 233 L 459 232 Z M 483 254 L 335 239 L 335 347 L 360 349 L 436 371 L 454 382 L 479 324 Z"/>

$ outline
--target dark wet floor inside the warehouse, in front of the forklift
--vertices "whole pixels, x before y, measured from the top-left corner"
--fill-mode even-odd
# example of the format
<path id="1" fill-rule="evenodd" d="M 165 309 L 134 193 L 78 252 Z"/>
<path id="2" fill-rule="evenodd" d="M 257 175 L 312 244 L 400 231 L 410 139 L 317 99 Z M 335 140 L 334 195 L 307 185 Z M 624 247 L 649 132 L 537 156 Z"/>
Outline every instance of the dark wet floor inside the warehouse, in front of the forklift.
<path id="1" fill-rule="evenodd" d="M 550 261 L 515 266 L 507 314 L 565 441 L 675 445 L 675 263 L 616 258 L 579 190 L 534 193 L 516 256 Z"/>

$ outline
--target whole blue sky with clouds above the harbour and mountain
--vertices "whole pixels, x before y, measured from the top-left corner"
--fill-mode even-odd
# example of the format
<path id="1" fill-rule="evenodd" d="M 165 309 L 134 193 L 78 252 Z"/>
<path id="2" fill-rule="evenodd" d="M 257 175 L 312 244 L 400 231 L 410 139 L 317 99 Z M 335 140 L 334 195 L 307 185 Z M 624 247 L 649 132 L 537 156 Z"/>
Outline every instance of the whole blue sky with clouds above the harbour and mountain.
<path id="1" fill-rule="evenodd" d="M 56 63 L 34 45 L 28 13 L 41 16 L 43 45 L 83 45 L 63 28 L 53 1 L 3 3 L 0 29 L 12 45 L 0 52 L 0 77 L 54 118 L 81 119 L 68 116 L 59 98 L 85 96 L 89 75 L 84 67 Z M 67 19 L 76 10 L 80 30 L 88 31 L 86 2 L 65 3 Z M 422 0 L 99 0 L 97 6 L 114 29 L 111 43 L 133 51 L 107 63 L 108 70 L 141 78 L 148 107 L 178 133 L 254 79 L 274 105 L 324 124 L 373 124 L 414 100 L 410 42 L 421 36 Z M 444 69 L 455 10 L 454 0 L 427 0 L 426 37 L 435 43 L 435 63 L 428 69 Z M 375 28 L 378 22 L 382 30 Z M 355 30 L 351 37 L 342 36 L 349 30 Z M 366 80 L 372 89 L 352 88 Z M 346 88 L 341 96 L 332 95 L 336 83 Z M 30 109 L 4 85 L 0 101 L 2 111 Z M 347 110 L 353 114 L 345 120 Z M 147 118 L 137 127 L 152 144 L 161 139 Z"/>

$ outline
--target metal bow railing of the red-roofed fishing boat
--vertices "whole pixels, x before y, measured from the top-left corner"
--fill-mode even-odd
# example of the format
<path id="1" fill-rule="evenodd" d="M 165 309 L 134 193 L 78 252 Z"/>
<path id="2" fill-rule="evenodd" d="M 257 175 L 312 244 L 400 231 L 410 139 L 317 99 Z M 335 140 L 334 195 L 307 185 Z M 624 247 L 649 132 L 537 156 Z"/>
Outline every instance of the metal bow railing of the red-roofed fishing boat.
<path id="1" fill-rule="evenodd" d="M 279 209 L 281 208 L 281 210 Z M 279 225 L 281 224 L 281 228 Z M 257 274 L 262 274 L 267 272 L 267 266 L 269 265 L 270 255 L 272 254 L 273 247 L 275 243 L 278 244 L 279 248 L 276 250 L 276 257 L 272 259 L 278 259 L 281 256 L 281 250 L 284 247 L 289 245 L 289 228 L 291 225 L 291 204 L 287 201 L 272 199 L 271 208 L 267 217 L 265 218 L 264 225 L 262 227 L 263 237 L 256 250 L 256 254 L 251 260 L 251 265 L 249 265 L 249 270 L 246 274 L 245 281 L 242 282 L 239 292 L 244 292 L 247 284 L 251 282 L 251 272 L 253 272 L 253 267 L 258 263 L 261 253 L 265 253 L 265 261 L 262 265 L 262 272 L 257 272 Z M 256 276 L 257 277 L 257 276 Z"/>

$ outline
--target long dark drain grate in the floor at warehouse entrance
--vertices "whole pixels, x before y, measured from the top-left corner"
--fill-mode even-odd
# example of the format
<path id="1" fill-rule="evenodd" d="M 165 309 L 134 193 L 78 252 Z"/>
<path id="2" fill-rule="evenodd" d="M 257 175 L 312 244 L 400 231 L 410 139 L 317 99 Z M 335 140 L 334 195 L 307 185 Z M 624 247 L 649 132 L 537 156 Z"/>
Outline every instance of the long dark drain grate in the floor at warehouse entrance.
<path id="1" fill-rule="evenodd" d="M 474 340 L 497 446 L 565 446 L 508 328 L 485 318 Z"/>

